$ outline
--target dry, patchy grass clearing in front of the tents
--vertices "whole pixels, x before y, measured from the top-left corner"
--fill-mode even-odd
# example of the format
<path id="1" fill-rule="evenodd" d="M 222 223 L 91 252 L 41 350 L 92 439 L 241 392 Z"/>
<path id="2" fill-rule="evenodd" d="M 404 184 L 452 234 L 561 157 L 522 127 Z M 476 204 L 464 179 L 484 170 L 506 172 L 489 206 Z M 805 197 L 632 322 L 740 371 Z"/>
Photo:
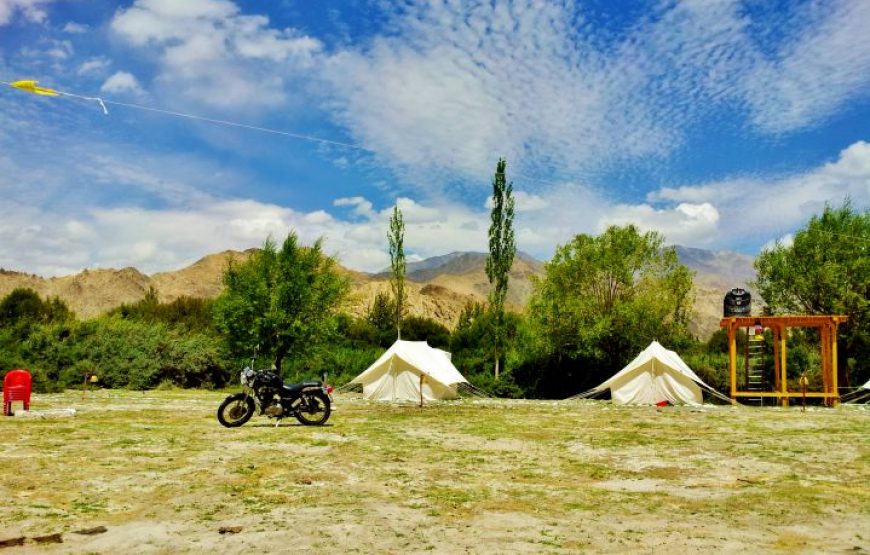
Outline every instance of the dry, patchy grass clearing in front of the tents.
<path id="1" fill-rule="evenodd" d="M 227 429 L 224 395 L 37 395 L 76 416 L 0 420 L 0 541 L 27 538 L 0 553 L 870 552 L 864 406 L 338 395 L 324 427 Z"/>

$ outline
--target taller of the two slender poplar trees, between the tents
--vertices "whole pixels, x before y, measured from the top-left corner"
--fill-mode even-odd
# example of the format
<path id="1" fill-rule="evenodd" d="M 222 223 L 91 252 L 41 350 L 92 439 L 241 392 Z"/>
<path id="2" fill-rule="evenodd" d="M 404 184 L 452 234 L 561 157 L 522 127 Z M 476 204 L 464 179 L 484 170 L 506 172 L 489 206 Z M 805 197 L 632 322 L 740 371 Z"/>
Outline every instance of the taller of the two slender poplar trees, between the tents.
<path id="1" fill-rule="evenodd" d="M 504 353 L 504 302 L 507 298 L 508 275 L 517 252 L 513 229 L 513 183 L 507 181 L 506 166 L 505 159 L 500 158 L 492 179 L 492 223 L 489 226 L 489 257 L 486 259 L 486 277 L 490 285 L 489 304 L 495 317 L 492 335 L 496 380 Z"/>

